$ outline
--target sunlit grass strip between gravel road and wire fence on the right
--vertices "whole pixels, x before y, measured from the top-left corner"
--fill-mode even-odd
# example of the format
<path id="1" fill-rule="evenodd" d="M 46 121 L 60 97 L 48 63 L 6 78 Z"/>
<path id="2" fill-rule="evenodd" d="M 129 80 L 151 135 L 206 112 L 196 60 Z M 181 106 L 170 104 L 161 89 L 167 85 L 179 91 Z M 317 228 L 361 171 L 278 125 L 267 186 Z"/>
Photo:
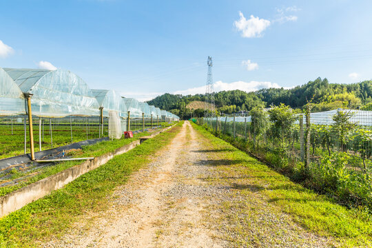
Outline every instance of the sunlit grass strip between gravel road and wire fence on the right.
<path id="1" fill-rule="evenodd" d="M 347 209 L 328 196 L 318 195 L 293 183 L 245 152 L 216 138 L 203 127 L 192 125 L 216 151 L 209 153 L 214 161 L 212 166 L 227 174 L 226 178 L 234 173 L 243 178 L 240 185 L 233 185 L 241 194 L 259 192 L 269 205 L 275 205 L 278 211 L 289 214 L 305 230 L 332 238 L 342 247 L 372 247 L 372 217 L 368 212 Z M 254 206 L 247 209 L 251 207 Z"/>

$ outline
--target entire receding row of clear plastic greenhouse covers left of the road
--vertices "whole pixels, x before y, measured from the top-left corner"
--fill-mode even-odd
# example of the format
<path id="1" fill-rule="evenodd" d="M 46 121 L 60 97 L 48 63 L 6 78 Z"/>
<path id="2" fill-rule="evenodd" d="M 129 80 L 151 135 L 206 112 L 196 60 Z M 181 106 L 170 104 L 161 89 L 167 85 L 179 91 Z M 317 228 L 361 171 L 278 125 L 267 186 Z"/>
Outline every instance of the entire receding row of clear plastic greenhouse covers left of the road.
<path id="1" fill-rule="evenodd" d="M 150 110 L 147 103 L 141 103 L 141 107 L 136 99 L 122 98 L 113 90 L 92 91 L 70 71 L 0 68 L 0 116 L 26 114 L 23 93 L 33 94 L 32 114 L 40 117 L 100 116 L 99 107 L 103 107 L 106 117 L 110 110 L 121 118 L 127 118 L 128 111 L 133 118 L 142 117 L 143 112 L 147 117 L 151 112 L 161 112 L 158 108 Z M 169 112 L 165 114 L 178 119 Z"/>

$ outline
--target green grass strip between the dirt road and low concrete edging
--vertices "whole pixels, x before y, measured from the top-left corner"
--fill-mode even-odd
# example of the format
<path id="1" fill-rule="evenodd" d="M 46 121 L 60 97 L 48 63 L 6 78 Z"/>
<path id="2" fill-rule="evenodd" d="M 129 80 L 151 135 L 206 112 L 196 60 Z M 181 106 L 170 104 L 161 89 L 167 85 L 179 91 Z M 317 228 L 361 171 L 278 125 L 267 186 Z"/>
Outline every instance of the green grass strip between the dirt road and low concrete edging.
<path id="1" fill-rule="evenodd" d="M 178 123 L 172 130 L 115 156 L 62 189 L 1 218 L 0 247 L 37 247 L 52 236 L 64 234 L 86 212 L 99 213 L 107 209 L 115 187 L 123 185 L 132 172 L 149 163 L 152 155 L 178 134 L 182 124 Z M 89 151 L 96 155 L 107 152 L 107 147 L 97 144 L 97 148 L 100 152 L 92 147 Z"/>

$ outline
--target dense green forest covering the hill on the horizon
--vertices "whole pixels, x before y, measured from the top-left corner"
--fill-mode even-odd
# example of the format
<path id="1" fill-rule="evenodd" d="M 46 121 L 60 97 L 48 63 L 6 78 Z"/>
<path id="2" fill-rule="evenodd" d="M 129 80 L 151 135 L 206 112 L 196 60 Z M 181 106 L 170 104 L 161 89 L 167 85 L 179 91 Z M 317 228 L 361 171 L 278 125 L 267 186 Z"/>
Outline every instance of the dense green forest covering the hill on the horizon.
<path id="1" fill-rule="evenodd" d="M 190 118 L 193 112 L 195 116 L 203 116 L 203 109 L 190 110 L 187 108 L 187 105 L 192 101 L 205 101 L 205 95 L 183 96 L 166 93 L 147 101 L 147 103 L 172 112 L 180 118 Z M 318 78 L 289 90 L 269 88 L 256 92 L 244 92 L 242 90 L 216 92 L 214 101 L 219 114 L 249 112 L 256 106 L 269 107 L 281 103 L 302 110 L 302 107 L 308 101 L 313 103 L 313 111 L 334 110 L 338 107 L 372 110 L 372 81 L 338 84 Z"/>

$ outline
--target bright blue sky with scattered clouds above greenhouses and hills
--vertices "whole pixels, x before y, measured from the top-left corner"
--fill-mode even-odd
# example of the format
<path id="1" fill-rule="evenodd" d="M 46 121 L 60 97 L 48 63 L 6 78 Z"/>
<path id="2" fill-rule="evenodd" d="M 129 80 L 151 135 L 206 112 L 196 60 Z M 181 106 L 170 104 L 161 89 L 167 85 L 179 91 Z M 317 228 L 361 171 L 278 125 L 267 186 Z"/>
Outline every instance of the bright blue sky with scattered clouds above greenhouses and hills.
<path id="1" fill-rule="evenodd" d="M 0 1 L 0 66 L 140 100 L 372 78 L 372 1 Z"/>

